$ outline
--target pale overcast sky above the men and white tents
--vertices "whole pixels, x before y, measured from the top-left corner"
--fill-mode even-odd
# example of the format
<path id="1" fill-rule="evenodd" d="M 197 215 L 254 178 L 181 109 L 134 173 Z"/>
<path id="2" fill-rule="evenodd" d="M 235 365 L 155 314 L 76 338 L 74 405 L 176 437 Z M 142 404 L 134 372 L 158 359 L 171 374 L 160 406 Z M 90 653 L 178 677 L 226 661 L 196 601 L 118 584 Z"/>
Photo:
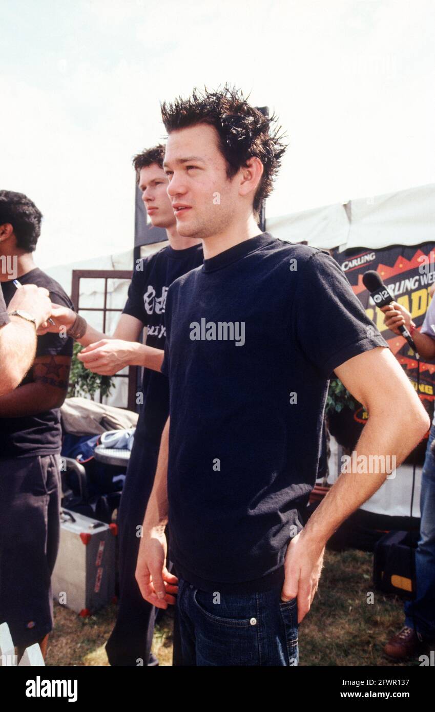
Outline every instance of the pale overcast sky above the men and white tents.
<path id="1" fill-rule="evenodd" d="M 39 266 L 130 248 L 159 101 L 234 83 L 289 148 L 267 214 L 435 182 L 433 0 L 0 0 L 0 187 Z"/>

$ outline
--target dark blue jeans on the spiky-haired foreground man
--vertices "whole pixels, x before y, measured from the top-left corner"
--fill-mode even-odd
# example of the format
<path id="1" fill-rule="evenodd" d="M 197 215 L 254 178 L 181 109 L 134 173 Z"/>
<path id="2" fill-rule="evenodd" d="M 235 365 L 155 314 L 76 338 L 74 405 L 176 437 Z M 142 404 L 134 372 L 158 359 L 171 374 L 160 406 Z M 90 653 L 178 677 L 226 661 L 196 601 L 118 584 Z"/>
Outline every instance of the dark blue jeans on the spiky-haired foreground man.
<path id="1" fill-rule="evenodd" d="M 177 612 L 185 666 L 298 664 L 297 599 L 282 584 L 252 594 L 209 593 L 179 578 Z"/>

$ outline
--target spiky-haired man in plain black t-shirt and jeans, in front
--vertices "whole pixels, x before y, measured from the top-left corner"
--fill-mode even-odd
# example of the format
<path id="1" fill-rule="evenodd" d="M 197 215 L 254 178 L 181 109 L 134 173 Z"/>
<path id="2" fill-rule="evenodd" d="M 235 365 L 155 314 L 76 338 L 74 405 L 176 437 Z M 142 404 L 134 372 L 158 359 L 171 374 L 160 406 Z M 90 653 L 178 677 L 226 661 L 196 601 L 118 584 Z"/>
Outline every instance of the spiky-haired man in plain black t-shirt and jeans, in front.
<path id="1" fill-rule="evenodd" d="M 330 255 L 258 229 L 284 151 L 274 120 L 229 87 L 162 117 L 177 230 L 204 263 L 167 294 L 169 419 L 136 577 L 175 602 L 169 520 L 184 664 L 293 665 L 327 539 L 387 477 L 342 473 L 303 528 L 332 373 L 370 412 L 358 455 L 400 463 L 429 419 Z"/>

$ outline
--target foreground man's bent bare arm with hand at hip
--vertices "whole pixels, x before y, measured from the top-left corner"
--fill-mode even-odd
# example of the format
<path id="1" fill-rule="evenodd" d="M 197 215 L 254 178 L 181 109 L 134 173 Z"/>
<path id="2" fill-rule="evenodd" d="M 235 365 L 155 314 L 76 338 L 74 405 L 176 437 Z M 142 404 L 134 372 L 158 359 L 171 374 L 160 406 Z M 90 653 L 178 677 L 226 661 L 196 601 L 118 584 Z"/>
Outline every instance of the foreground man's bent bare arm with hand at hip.
<path id="1" fill-rule="evenodd" d="M 357 462 L 362 461 L 360 456 L 367 465 L 370 456 L 395 456 L 398 467 L 430 426 L 429 416 L 402 367 L 389 350 L 376 347 L 346 361 L 335 373 L 369 412 L 355 447 Z M 298 596 L 299 621 L 310 609 L 317 590 L 327 540 L 389 474 L 387 468 L 377 473 L 349 469 L 340 474 L 303 531 L 288 545 L 282 596 Z"/>

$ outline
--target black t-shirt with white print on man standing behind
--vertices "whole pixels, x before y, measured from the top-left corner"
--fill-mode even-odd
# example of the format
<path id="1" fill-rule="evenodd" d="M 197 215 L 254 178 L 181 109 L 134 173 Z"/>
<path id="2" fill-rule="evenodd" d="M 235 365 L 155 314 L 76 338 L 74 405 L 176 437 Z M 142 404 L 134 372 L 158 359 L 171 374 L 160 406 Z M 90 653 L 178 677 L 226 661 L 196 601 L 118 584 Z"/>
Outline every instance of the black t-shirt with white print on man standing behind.
<path id="1" fill-rule="evenodd" d="M 185 250 L 174 250 L 168 245 L 137 264 L 123 313 L 142 321 L 147 328 L 148 346 L 164 349 L 164 310 L 169 285 L 174 279 L 201 265 L 202 260 L 201 245 Z M 167 377 L 144 368 L 142 395 L 135 441 L 147 440 L 159 444 L 169 414 Z"/>

